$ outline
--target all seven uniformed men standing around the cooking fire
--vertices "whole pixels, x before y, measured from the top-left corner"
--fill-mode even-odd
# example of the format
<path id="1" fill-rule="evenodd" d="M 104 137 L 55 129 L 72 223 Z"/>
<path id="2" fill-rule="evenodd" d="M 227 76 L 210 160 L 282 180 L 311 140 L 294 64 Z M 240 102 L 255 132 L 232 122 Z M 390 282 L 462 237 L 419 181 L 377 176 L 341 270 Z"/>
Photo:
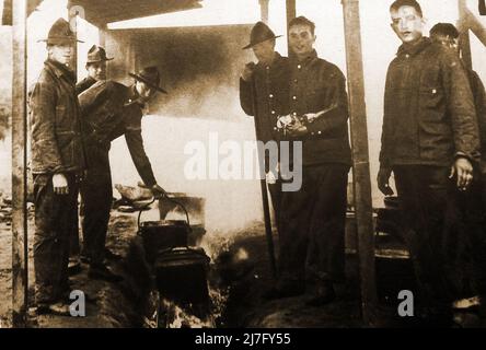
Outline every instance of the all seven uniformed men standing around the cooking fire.
<path id="1" fill-rule="evenodd" d="M 450 319 L 454 301 L 485 293 L 485 91 L 460 58 L 452 24 L 438 24 L 430 38 L 424 36 L 416 0 L 396 0 L 390 14 L 403 45 L 386 75 L 378 186 L 393 195 L 389 179 L 394 174 L 420 315 Z M 336 300 L 336 283 L 345 280 L 348 96 L 343 72 L 317 57 L 315 24 L 299 16 L 289 22 L 288 33 L 286 58 L 275 51 L 278 36 L 266 24 L 253 27 L 244 49 L 253 49 L 257 63 L 244 68 L 240 101 L 255 117 L 258 140 L 302 145 L 297 191 L 282 190 L 289 179 L 279 176 L 282 163 L 294 165 L 293 158 L 279 159 L 277 166 L 265 158 L 279 259 L 277 282 L 264 298 L 311 291 L 306 304 L 320 306 Z M 70 256 L 73 269 L 79 259 L 89 264 L 90 278 L 121 279 L 107 266 L 117 256 L 105 247 L 111 142 L 124 135 L 146 186 L 155 197 L 165 195 L 141 137 L 144 104 L 165 91 L 154 67 L 130 74 L 131 86 L 106 80 L 111 58 L 97 46 L 88 55 L 89 78 L 77 85 L 69 68 L 77 37 L 65 20 L 54 24 L 46 43 L 48 59 L 30 96 L 35 293 L 38 313 L 69 314 Z"/>

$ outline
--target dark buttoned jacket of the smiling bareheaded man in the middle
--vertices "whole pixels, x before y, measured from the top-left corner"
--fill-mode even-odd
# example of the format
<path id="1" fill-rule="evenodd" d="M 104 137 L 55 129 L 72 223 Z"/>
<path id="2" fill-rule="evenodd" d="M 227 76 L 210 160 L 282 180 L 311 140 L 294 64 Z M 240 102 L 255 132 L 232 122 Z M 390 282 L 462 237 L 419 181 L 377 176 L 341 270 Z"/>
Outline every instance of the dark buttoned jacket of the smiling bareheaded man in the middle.
<path id="1" fill-rule="evenodd" d="M 290 58 L 290 113 L 296 117 L 333 106 L 314 122 L 302 141 L 302 164 L 351 164 L 348 132 L 348 96 L 346 79 L 335 65 L 317 57 L 314 50 L 306 59 Z"/>

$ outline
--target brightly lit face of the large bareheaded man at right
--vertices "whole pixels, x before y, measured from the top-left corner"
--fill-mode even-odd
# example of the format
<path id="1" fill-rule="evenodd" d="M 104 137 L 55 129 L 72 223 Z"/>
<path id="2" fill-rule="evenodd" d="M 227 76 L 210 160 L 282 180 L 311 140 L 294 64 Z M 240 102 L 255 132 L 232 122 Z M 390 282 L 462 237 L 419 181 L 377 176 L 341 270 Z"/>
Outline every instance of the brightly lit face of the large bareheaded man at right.
<path id="1" fill-rule="evenodd" d="M 404 44 L 412 44 L 421 38 L 424 19 L 413 7 L 401 7 L 392 11 L 392 28 Z"/>

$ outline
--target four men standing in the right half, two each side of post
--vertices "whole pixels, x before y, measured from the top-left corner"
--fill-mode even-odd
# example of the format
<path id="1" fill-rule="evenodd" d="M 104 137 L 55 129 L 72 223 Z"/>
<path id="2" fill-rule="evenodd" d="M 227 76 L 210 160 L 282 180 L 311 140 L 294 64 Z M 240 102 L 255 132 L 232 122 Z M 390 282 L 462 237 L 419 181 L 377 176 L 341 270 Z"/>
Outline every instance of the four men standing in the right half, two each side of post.
<path id="1" fill-rule="evenodd" d="M 394 195 L 394 175 L 400 233 L 418 285 L 417 316 L 449 324 L 459 301 L 481 310 L 486 291 L 485 90 L 460 58 L 454 25 L 439 23 L 426 37 L 416 0 L 394 1 L 390 14 L 402 45 L 386 75 L 378 187 Z M 288 31 L 285 58 L 266 24 L 253 27 L 245 48 L 258 61 L 244 68 L 240 100 L 255 117 L 259 140 L 302 144 L 298 191 L 282 190 L 287 179 L 279 176 L 292 158 L 279 159 L 276 168 L 265 158 L 279 259 L 277 283 L 264 296 L 310 292 L 306 304 L 319 306 L 336 300 L 336 283 L 345 278 L 348 96 L 342 71 L 317 57 L 314 23 L 299 16 Z"/>

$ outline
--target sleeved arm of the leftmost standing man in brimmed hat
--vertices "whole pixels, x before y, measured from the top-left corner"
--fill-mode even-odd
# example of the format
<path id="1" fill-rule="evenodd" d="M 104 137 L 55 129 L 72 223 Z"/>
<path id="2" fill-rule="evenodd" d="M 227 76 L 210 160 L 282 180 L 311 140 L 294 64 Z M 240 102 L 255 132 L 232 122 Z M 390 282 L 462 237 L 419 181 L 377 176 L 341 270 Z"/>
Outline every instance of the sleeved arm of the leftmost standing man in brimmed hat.
<path id="1" fill-rule="evenodd" d="M 53 83 L 39 80 L 31 94 L 32 142 L 43 154 L 39 162 L 50 173 L 63 171 L 59 145 L 55 135 L 56 92 Z"/>

